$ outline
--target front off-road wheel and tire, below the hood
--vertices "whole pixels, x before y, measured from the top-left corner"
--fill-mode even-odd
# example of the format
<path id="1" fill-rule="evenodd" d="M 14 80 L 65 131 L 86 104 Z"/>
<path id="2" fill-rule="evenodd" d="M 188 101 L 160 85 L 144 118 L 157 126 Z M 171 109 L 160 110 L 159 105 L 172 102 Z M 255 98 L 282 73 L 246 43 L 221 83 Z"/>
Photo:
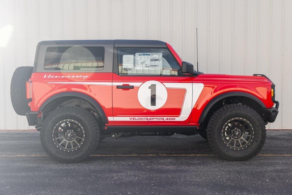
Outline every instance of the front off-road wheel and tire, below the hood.
<path id="1" fill-rule="evenodd" d="M 244 161 L 255 156 L 266 139 L 263 119 L 252 108 L 229 104 L 211 116 L 207 127 L 213 151 L 229 161 Z"/>

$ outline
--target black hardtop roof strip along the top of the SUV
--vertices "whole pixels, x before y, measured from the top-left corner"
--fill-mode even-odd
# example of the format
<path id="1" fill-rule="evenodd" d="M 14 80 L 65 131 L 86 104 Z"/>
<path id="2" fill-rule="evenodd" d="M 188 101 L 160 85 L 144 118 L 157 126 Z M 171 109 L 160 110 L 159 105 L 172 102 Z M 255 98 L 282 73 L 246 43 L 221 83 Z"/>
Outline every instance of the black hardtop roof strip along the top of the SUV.
<path id="1" fill-rule="evenodd" d="M 56 40 L 56 41 L 41 41 L 38 44 L 114 44 L 115 47 L 166 47 L 165 42 L 158 40 Z"/>

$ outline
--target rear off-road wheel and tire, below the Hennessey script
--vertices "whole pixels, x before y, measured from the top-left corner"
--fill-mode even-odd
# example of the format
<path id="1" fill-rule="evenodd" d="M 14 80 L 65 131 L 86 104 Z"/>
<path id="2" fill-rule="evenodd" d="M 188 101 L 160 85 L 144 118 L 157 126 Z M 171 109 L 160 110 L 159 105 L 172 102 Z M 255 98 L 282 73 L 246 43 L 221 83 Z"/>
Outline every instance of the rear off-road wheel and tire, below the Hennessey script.
<path id="1" fill-rule="evenodd" d="M 41 144 L 56 161 L 76 163 L 86 160 L 95 151 L 99 136 L 99 125 L 92 113 L 78 106 L 68 106 L 46 117 Z"/>

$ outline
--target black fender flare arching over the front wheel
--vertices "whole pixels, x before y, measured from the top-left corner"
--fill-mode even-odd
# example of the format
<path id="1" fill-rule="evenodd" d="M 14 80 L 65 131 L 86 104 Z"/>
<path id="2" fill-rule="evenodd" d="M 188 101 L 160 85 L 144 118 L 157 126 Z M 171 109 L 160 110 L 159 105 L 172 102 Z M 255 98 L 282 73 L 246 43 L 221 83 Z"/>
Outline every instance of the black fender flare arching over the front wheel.
<path id="1" fill-rule="evenodd" d="M 244 96 L 244 97 L 248 97 L 253 99 L 254 101 L 256 101 L 257 103 L 260 104 L 260 106 L 262 106 L 263 108 L 266 108 L 265 104 L 260 101 L 260 99 L 258 99 L 256 96 L 246 93 L 246 92 L 226 92 L 224 94 L 220 94 L 218 96 L 215 96 L 213 99 L 211 99 L 211 101 L 209 101 L 209 103 L 207 104 L 207 106 L 205 106 L 203 112 L 201 113 L 201 116 L 199 118 L 198 123 L 202 123 L 204 122 L 209 110 L 212 108 L 212 106 L 218 102 L 219 100 L 223 99 L 223 98 L 227 98 L 230 96 Z"/>

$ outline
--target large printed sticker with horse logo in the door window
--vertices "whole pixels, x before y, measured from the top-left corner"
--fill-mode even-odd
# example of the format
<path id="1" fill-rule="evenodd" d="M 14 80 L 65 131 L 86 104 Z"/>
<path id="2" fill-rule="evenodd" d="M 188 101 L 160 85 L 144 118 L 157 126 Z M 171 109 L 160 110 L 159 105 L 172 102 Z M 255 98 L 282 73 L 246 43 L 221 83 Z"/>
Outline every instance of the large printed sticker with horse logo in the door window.
<path id="1" fill-rule="evenodd" d="M 162 53 L 136 53 L 135 66 L 162 69 Z"/>

